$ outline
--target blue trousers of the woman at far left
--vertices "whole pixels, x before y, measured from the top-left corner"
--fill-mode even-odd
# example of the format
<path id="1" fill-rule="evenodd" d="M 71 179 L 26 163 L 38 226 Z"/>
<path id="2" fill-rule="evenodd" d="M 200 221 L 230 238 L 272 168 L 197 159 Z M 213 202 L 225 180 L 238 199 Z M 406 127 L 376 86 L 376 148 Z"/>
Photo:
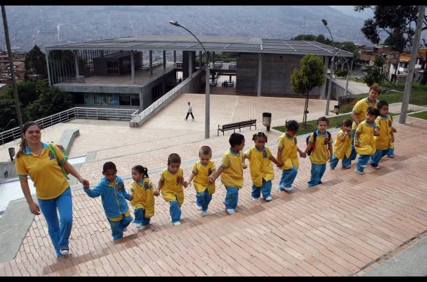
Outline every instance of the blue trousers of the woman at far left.
<path id="1" fill-rule="evenodd" d="M 72 196 L 70 187 L 54 199 L 37 199 L 41 213 L 48 224 L 50 239 L 54 245 L 56 256 L 61 257 L 61 248 L 68 247 L 72 228 Z M 58 213 L 59 211 L 59 220 Z"/>

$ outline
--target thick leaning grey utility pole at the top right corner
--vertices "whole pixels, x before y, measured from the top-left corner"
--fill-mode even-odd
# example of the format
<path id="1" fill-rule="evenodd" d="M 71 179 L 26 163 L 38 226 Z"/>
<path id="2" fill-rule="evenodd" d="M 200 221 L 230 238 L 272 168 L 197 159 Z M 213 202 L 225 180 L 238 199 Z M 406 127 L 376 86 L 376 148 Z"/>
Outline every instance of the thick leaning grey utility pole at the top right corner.
<path id="1" fill-rule="evenodd" d="M 423 26 L 424 13 L 426 12 L 426 6 L 419 6 L 419 14 L 417 21 L 417 31 L 415 32 L 414 41 L 412 43 L 412 50 L 410 52 L 410 61 L 408 65 L 408 76 L 406 77 L 404 98 L 402 100 L 402 109 L 400 109 L 399 123 L 404 124 L 406 122 L 406 114 L 408 113 L 408 105 L 410 98 L 410 90 L 412 88 L 412 82 L 414 79 L 415 61 L 417 61 L 417 53 L 419 48 L 419 38 L 421 37 L 421 28 Z M 397 62 L 399 63 L 399 62 Z"/>

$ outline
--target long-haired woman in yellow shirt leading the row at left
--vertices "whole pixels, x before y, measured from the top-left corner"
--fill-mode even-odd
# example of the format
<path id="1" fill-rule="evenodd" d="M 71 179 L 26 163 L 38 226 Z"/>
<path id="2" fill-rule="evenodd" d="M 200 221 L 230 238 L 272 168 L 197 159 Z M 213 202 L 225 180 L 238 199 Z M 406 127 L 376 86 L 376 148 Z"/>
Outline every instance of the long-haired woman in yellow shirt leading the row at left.
<path id="1" fill-rule="evenodd" d="M 22 132 L 15 164 L 22 192 L 27 199 L 31 213 L 34 215 L 43 213 L 56 255 L 61 257 L 63 254 L 69 254 L 68 238 L 72 228 L 71 189 L 67 178 L 61 171 L 61 166 L 67 173 L 76 177 L 83 186 L 89 187 L 89 182 L 65 160 L 61 149 L 52 144 L 59 163 L 56 161 L 54 152 L 50 151 L 47 144 L 41 142 L 41 131 L 37 122 L 25 122 Z M 39 204 L 32 199 L 30 186 L 28 186 L 28 175 L 36 187 Z M 59 210 L 61 223 L 59 223 L 56 210 Z"/>

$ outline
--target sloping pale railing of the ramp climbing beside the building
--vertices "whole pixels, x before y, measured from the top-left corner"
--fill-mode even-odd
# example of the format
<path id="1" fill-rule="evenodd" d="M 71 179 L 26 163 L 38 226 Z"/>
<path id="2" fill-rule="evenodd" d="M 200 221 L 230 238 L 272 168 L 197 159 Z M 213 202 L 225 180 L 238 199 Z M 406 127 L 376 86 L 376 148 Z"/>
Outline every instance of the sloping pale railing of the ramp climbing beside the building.
<path id="1" fill-rule="evenodd" d="M 191 78 L 195 78 L 196 76 L 198 76 L 200 74 L 200 72 L 204 72 L 203 68 L 198 70 L 197 72 L 195 72 Z M 181 94 L 180 89 L 187 86 L 187 84 L 191 82 L 191 78 L 190 77 L 185 78 L 185 80 L 183 80 L 182 83 L 176 85 L 176 87 L 171 89 L 165 95 L 161 96 L 158 100 L 153 102 L 152 105 L 149 105 L 149 107 L 147 107 L 147 109 L 141 111 L 138 114 L 133 114 L 132 120 L 130 120 L 129 125 L 131 127 L 133 127 L 133 126 L 136 126 L 136 124 L 140 124 L 140 122 L 142 120 L 144 120 L 145 118 L 147 118 L 147 116 L 151 115 L 154 111 L 158 110 L 158 107 L 163 105 L 165 102 L 168 102 L 169 100 L 173 100 L 174 98 L 176 98 L 176 96 Z"/>

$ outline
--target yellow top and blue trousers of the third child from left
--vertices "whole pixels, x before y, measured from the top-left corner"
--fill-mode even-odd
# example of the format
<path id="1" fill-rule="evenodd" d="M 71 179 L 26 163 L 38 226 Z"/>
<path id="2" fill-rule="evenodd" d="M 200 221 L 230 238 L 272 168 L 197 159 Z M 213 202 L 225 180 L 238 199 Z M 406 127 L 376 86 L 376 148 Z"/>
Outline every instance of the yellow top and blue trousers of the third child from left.
<path id="1" fill-rule="evenodd" d="M 181 180 L 184 178 L 183 169 L 179 169 L 177 173 L 171 173 L 169 169 L 165 169 L 160 174 L 160 180 L 163 181 L 161 189 L 163 198 L 169 202 L 169 213 L 172 223 L 180 221 L 181 206 L 184 202 L 184 189 Z"/>

